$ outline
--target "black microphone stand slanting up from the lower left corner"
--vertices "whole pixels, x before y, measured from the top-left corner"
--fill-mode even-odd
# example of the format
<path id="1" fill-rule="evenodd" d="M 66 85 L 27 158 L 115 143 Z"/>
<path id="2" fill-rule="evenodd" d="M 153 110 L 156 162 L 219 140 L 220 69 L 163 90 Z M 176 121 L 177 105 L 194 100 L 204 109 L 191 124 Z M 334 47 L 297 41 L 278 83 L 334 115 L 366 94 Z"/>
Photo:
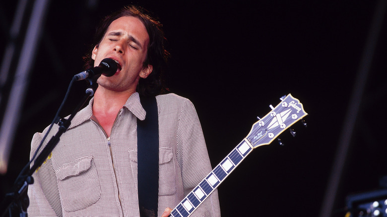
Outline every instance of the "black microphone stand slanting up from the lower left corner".
<path id="1" fill-rule="evenodd" d="M 50 153 L 54 150 L 55 146 L 58 144 L 61 135 L 67 130 L 70 126 L 71 120 L 74 118 L 75 114 L 83 107 L 87 100 L 94 95 L 93 81 L 92 79 L 87 79 L 90 82 L 90 88 L 86 89 L 86 94 L 71 113 L 71 115 L 65 119 L 62 118 L 59 120 L 58 132 L 50 139 L 47 145 L 44 147 L 42 152 L 36 158 L 35 163 L 29 170 L 23 169 L 20 175 L 16 178 L 16 181 L 13 186 L 13 191 L 5 195 L 3 200 L 2 207 L 5 207 L 4 211 L 1 211 L 1 217 L 27 217 L 27 207 L 29 206 L 29 199 L 27 195 L 27 187 L 30 184 L 34 183 L 32 174 L 38 169 L 49 157 Z M 27 167 L 28 169 L 29 167 Z M 17 214 L 16 214 L 17 213 Z"/>

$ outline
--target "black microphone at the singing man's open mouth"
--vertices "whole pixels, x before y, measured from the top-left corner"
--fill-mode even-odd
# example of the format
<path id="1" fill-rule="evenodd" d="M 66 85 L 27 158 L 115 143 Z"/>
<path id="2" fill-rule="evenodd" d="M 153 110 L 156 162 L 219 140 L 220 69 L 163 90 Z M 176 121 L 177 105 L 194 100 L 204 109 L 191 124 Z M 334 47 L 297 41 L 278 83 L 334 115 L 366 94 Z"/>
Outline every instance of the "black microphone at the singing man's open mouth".
<path id="1" fill-rule="evenodd" d="M 116 73 L 117 67 L 118 66 L 116 61 L 111 58 L 105 58 L 102 59 L 98 66 L 89 68 L 86 71 L 82 71 L 74 75 L 73 78 L 75 78 L 75 81 L 79 81 L 88 77 L 101 76 L 101 74 L 105 75 L 106 77 L 110 77 Z"/>

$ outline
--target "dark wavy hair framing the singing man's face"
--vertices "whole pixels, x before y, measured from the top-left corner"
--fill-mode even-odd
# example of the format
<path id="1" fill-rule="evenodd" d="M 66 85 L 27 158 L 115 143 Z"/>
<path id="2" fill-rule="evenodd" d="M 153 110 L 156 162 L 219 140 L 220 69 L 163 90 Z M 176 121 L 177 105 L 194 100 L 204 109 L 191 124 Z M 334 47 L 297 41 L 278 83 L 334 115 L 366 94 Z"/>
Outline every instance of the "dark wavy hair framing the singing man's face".
<path id="1" fill-rule="evenodd" d="M 136 89 L 137 92 L 141 96 L 148 97 L 165 93 L 168 89 L 165 87 L 164 76 L 167 70 L 167 60 L 169 57 L 169 53 L 165 49 L 166 38 L 161 23 L 151 17 L 149 11 L 140 6 L 125 6 L 102 19 L 96 29 L 90 51 L 83 56 L 85 61 L 83 68 L 86 70 L 94 67 L 94 60 L 91 58 L 91 52 L 96 45 L 101 43 L 110 24 L 123 16 L 132 16 L 141 20 L 149 35 L 149 45 L 143 67 L 150 64 L 153 66 L 153 70 L 146 79 L 140 78 Z"/>

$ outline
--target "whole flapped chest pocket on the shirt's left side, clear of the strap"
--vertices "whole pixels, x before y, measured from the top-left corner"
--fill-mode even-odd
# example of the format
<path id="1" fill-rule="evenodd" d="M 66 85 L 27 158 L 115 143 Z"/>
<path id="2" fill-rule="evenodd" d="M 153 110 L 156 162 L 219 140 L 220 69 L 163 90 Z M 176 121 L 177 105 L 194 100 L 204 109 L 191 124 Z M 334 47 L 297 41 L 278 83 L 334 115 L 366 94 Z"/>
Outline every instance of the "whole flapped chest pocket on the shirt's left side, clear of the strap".
<path id="1" fill-rule="evenodd" d="M 87 156 L 56 170 L 59 194 L 66 212 L 85 209 L 101 197 L 93 157 Z"/>

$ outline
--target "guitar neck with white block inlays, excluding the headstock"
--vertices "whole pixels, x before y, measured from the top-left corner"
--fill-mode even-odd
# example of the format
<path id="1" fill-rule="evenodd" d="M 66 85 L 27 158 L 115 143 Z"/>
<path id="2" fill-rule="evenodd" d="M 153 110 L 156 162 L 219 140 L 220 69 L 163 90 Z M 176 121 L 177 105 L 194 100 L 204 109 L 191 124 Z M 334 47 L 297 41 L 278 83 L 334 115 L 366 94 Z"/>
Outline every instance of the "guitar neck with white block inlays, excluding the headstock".
<path id="1" fill-rule="evenodd" d="M 235 147 L 187 197 L 185 197 L 174 210 L 170 217 L 189 217 L 196 208 L 234 171 L 247 155 L 253 151 L 253 146 L 247 139 Z"/>

